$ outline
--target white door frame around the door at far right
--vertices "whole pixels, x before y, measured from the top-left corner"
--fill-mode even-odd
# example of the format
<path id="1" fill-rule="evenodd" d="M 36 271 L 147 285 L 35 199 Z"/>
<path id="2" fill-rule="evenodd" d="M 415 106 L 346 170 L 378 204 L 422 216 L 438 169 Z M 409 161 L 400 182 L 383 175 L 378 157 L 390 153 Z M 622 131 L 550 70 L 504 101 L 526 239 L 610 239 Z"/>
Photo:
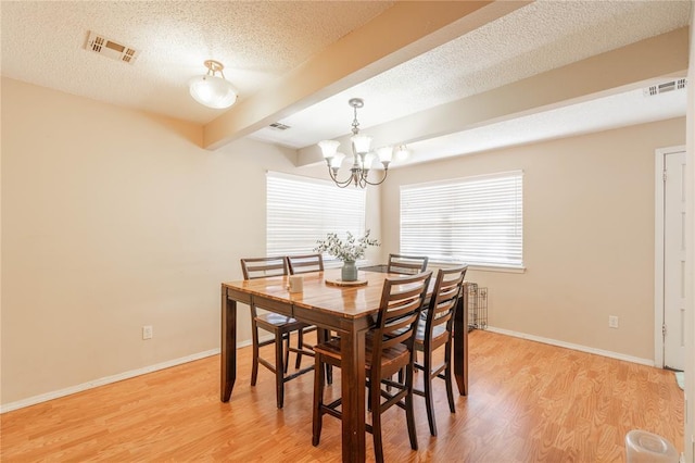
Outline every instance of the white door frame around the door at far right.
<path id="1" fill-rule="evenodd" d="M 654 366 L 664 368 L 664 168 L 666 155 L 685 151 L 685 145 L 658 148 L 655 157 L 654 195 Z"/>

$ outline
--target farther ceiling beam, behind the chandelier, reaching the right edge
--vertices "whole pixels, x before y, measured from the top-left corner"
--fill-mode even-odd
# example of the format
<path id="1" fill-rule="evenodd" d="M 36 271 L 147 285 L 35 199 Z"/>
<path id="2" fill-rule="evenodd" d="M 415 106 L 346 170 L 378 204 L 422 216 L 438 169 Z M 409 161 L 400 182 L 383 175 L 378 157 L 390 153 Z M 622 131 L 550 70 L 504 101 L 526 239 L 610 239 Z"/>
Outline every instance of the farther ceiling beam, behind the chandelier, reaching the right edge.
<path id="1" fill-rule="evenodd" d="M 413 143 L 547 111 L 686 75 L 683 27 L 526 79 L 369 127 L 374 146 Z M 348 143 L 349 137 L 338 138 Z M 316 147 L 299 150 L 298 165 L 323 162 Z"/>

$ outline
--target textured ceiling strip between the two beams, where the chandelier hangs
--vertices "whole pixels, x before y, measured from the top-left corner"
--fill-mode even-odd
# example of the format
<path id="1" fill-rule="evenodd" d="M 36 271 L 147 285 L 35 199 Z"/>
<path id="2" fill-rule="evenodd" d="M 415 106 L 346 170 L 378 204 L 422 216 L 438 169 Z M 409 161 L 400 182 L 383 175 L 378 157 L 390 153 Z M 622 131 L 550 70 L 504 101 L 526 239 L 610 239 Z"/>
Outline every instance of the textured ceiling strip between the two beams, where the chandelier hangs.
<path id="1" fill-rule="evenodd" d="M 279 121 L 291 132 L 255 137 L 302 148 L 349 132 L 350 98 L 365 100 L 359 122 L 370 127 L 686 26 L 688 17 L 687 1 L 538 1 Z"/>

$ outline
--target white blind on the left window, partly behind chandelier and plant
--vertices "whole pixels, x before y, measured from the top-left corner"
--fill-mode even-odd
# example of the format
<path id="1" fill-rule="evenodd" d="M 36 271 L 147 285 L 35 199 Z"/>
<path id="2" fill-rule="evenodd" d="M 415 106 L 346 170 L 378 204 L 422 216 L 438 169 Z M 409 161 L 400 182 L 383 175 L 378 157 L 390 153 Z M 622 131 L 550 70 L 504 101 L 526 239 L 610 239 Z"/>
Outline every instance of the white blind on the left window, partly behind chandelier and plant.
<path id="1" fill-rule="evenodd" d="M 364 189 L 277 172 L 268 172 L 266 179 L 267 255 L 312 252 L 329 232 L 364 234 Z"/>

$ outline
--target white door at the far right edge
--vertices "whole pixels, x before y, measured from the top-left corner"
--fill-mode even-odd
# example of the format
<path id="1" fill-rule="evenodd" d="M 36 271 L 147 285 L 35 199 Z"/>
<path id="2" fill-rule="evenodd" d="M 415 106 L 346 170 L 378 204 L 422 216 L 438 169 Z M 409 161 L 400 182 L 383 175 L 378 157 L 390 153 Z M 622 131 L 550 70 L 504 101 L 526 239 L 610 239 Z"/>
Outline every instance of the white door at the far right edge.
<path id="1" fill-rule="evenodd" d="M 664 366 L 685 367 L 685 152 L 664 159 Z"/>

